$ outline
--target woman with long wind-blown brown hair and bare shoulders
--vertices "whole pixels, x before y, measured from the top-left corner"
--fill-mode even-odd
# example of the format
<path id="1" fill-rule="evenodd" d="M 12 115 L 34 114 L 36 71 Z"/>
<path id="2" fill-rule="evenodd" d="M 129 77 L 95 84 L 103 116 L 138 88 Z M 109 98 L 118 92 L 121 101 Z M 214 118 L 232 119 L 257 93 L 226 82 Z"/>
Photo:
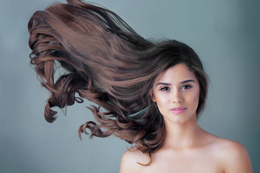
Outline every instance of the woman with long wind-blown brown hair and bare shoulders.
<path id="1" fill-rule="evenodd" d="M 31 65 L 51 93 L 48 122 L 57 118 L 52 107 L 83 102 L 77 92 L 99 105 L 87 107 L 95 122 L 79 127 L 80 140 L 88 128 L 90 139 L 114 135 L 136 144 L 123 154 L 120 173 L 252 172 L 242 144 L 197 123 L 210 80 L 192 48 L 144 39 L 105 7 L 67 2 L 36 11 L 28 23 Z M 57 63 L 66 72 L 55 80 Z"/>

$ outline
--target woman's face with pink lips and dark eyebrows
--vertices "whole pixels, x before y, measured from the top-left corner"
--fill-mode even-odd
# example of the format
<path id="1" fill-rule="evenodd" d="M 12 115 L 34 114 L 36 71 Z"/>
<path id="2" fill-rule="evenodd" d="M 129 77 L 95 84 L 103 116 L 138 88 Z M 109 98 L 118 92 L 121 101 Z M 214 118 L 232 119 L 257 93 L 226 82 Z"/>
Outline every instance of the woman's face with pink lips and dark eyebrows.
<path id="1" fill-rule="evenodd" d="M 181 83 L 186 80 L 193 80 L 194 82 Z M 155 81 L 153 84 L 154 98 L 152 100 L 157 103 L 164 119 L 174 123 L 195 121 L 200 86 L 197 78 L 189 71 L 188 67 L 183 63 L 174 65 L 164 72 L 159 81 Z M 186 110 L 179 114 L 174 113 L 171 109 L 175 106 L 183 106 Z"/>

